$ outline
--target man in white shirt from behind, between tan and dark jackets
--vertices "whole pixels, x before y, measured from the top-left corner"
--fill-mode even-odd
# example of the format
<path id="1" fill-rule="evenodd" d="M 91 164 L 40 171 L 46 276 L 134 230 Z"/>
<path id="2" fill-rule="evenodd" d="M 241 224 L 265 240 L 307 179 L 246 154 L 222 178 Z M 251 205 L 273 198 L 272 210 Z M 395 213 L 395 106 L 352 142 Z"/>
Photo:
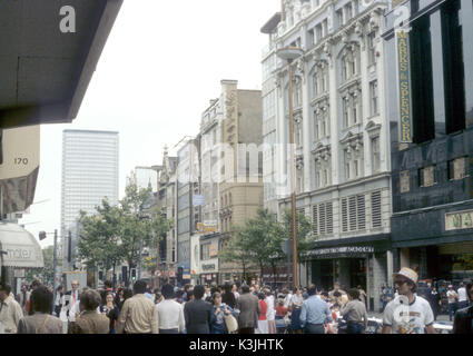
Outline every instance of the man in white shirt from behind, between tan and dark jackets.
<path id="1" fill-rule="evenodd" d="M 161 288 L 164 300 L 156 305 L 159 319 L 159 334 L 179 334 L 184 332 L 186 322 L 184 318 L 184 307 L 174 300 L 174 288 L 171 285 L 164 285 Z"/>

